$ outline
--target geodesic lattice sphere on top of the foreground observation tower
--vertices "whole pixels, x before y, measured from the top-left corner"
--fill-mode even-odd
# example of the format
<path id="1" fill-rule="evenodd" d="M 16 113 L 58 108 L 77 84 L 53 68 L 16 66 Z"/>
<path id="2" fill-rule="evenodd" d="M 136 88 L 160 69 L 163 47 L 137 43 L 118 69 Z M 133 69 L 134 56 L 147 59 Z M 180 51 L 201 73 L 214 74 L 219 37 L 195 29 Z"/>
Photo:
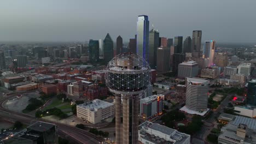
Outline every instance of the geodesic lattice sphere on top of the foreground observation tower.
<path id="1" fill-rule="evenodd" d="M 107 66 L 106 85 L 114 93 L 134 93 L 147 89 L 151 74 L 148 63 L 135 53 L 121 53 Z"/>

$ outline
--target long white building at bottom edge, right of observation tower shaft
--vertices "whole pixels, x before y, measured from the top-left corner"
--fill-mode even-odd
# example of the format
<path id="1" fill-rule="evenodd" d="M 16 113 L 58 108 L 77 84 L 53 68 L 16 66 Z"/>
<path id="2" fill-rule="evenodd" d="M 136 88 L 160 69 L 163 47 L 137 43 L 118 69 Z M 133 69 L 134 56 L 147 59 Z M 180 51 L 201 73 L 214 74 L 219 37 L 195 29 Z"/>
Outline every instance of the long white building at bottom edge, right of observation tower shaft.
<path id="1" fill-rule="evenodd" d="M 158 123 L 146 121 L 139 125 L 138 140 L 143 144 L 190 144 L 190 135 Z"/>

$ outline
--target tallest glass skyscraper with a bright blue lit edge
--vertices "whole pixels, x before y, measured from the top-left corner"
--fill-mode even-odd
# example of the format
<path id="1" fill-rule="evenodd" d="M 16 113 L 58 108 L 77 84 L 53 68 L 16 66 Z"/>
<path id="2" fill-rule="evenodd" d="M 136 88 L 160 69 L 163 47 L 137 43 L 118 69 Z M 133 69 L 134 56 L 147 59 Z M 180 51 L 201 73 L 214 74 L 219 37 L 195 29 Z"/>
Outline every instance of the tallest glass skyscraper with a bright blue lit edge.
<path id="1" fill-rule="evenodd" d="M 139 15 L 137 21 L 137 54 L 148 62 L 149 21 L 147 15 Z"/>

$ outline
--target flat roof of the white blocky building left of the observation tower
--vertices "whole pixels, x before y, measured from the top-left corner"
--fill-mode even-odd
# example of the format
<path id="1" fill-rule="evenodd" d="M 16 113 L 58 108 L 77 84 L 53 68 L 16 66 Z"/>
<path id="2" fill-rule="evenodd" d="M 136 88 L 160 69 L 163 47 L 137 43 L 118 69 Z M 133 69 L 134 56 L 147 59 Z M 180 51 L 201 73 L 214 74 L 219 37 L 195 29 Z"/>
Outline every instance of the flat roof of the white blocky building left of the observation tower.
<path id="1" fill-rule="evenodd" d="M 97 111 L 98 109 L 104 109 L 112 105 L 114 104 L 108 103 L 100 99 L 95 99 L 88 103 L 80 104 L 78 105 L 78 107 L 81 107 L 83 109 L 90 109 L 91 111 Z"/>

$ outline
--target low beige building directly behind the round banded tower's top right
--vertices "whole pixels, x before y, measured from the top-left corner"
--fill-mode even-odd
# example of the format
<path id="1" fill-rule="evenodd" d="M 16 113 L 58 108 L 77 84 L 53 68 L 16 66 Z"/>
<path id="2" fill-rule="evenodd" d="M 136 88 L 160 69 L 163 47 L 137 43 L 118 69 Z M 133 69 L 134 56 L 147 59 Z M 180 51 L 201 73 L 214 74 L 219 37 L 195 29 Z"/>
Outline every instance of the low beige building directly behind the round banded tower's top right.
<path id="1" fill-rule="evenodd" d="M 201 69 L 201 77 L 216 79 L 219 76 L 219 69 L 218 67 L 207 67 Z"/>

